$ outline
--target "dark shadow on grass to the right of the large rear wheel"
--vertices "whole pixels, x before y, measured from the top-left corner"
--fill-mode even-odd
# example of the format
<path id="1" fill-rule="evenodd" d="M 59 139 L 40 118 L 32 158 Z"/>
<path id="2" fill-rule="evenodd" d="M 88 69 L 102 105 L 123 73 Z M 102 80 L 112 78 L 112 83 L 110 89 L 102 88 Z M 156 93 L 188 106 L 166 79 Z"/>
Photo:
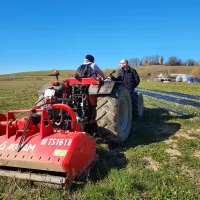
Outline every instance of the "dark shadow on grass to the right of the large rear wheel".
<path id="1" fill-rule="evenodd" d="M 124 147 L 132 148 L 138 145 L 165 141 L 181 128 L 179 123 L 168 122 L 169 120 L 191 117 L 170 115 L 169 111 L 162 108 L 145 109 L 144 117 L 134 121 L 134 131 Z"/>

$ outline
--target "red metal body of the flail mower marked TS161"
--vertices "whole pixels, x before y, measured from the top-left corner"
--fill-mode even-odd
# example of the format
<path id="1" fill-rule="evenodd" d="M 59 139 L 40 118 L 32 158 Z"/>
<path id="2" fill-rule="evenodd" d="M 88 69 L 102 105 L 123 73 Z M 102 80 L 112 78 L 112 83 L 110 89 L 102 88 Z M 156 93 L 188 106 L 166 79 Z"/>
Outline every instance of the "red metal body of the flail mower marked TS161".
<path id="1" fill-rule="evenodd" d="M 28 117 L 15 119 L 16 113 L 30 113 L 30 110 L 11 110 L 7 117 L 0 114 L 0 166 L 63 172 L 66 187 L 70 187 L 77 175 L 88 171 L 97 159 L 94 140 L 81 131 L 76 123 L 76 114 L 67 105 L 55 104 L 54 108 L 69 112 L 72 131 L 54 129 L 45 109 L 41 121 L 30 122 L 23 141 L 23 148 L 16 149 Z"/>

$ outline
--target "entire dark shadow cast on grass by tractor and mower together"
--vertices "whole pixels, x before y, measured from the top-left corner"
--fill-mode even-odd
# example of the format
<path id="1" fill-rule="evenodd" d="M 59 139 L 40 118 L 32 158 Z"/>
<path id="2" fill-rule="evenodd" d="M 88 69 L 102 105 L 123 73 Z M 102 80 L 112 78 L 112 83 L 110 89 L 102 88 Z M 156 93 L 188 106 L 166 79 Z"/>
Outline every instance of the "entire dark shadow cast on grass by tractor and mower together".
<path id="1" fill-rule="evenodd" d="M 84 182 L 73 184 L 72 191 L 83 188 L 87 182 L 95 183 L 104 180 L 112 169 L 125 168 L 127 159 L 124 152 L 127 149 L 167 140 L 181 128 L 179 123 L 168 121 L 185 118 L 191 118 L 191 116 L 170 115 L 169 111 L 162 108 L 146 108 L 143 118 L 134 120 L 133 133 L 126 143 L 120 146 L 109 145 L 107 149 L 97 144 L 99 161 Z"/>

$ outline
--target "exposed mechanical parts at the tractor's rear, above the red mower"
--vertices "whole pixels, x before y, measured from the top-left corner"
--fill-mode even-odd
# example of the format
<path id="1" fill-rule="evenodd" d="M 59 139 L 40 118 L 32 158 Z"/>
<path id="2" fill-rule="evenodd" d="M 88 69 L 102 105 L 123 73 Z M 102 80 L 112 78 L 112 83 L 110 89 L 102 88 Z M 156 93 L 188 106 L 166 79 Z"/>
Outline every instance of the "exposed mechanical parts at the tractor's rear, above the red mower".
<path id="1" fill-rule="evenodd" d="M 76 113 L 76 120 L 83 124 L 88 115 L 88 86 L 70 85 L 67 80 L 53 82 L 52 87 L 44 91 L 44 105 L 54 127 L 71 130 L 72 119 L 64 109 L 54 108 L 54 104 L 68 105 Z"/>

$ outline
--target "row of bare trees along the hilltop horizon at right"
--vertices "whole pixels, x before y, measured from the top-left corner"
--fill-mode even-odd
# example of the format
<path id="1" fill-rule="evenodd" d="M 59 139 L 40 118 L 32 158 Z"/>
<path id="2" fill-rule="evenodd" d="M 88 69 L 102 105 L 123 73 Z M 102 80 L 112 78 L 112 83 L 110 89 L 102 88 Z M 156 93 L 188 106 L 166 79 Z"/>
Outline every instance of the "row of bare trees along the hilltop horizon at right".
<path id="1" fill-rule="evenodd" d="M 177 56 L 170 56 L 166 62 L 164 62 L 164 57 L 160 55 L 145 56 L 143 58 L 130 58 L 130 66 L 141 66 L 141 65 L 166 65 L 166 66 L 200 66 L 200 61 L 189 58 L 187 60 L 182 60 Z"/>

